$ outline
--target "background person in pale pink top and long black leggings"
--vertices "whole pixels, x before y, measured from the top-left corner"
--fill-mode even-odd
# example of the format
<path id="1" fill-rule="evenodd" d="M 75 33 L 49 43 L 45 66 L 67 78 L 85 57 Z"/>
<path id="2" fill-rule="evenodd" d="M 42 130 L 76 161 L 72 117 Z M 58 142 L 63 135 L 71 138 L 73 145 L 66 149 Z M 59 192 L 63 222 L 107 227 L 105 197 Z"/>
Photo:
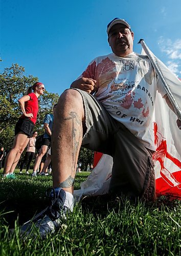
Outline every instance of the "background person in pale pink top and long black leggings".
<path id="1" fill-rule="evenodd" d="M 28 142 L 28 147 L 27 147 L 27 151 L 25 154 L 25 158 L 20 164 L 19 174 L 22 174 L 22 169 L 24 168 L 27 161 L 28 161 L 28 163 L 27 163 L 26 174 L 29 174 L 28 170 L 30 168 L 31 161 L 33 160 L 33 158 L 35 156 L 35 151 L 36 151 L 35 142 L 36 142 L 37 135 L 38 135 L 38 133 L 34 132 L 33 137 L 31 137 Z"/>

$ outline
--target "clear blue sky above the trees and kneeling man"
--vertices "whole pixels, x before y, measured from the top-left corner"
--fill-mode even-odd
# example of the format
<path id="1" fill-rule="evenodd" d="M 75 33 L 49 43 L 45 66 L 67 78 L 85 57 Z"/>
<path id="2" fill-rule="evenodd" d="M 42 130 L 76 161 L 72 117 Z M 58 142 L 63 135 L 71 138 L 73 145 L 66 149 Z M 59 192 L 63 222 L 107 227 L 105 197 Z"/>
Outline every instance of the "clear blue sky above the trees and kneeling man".
<path id="1" fill-rule="evenodd" d="M 111 52 L 106 26 L 124 18 L 134 51 L 144 38 L 150 50 L 181 77 L 181 1 L 1 1 L 0 71 L 12 63 L 61 94 L 95 57 Z"/>

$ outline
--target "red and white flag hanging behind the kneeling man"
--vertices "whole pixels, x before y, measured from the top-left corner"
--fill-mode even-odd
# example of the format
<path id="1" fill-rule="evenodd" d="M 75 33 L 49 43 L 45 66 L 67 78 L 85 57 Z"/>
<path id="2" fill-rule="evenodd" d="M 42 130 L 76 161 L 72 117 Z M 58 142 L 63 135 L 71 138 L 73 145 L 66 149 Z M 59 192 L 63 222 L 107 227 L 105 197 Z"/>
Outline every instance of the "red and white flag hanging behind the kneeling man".
<path id="1" fill-rule="evenodd" d="M 154 56 L 154 55 L 153 55 Z M 154 56 L 174 100 L 181 109 L 181 82 Z M 169 109 L 166 101 L 157 93 L 153 113 L 153 133 L 156 151 L 153 154 L 156 177 L 156 194 L 171 195 L 181 199 L 181 130 L 176 125 L 177 117 Z M 112 169 L 112 157 L 100 155 L 100 160 L 81 189 L 74 191 L 75 200 L 82 196 L 108 193 Z"/>

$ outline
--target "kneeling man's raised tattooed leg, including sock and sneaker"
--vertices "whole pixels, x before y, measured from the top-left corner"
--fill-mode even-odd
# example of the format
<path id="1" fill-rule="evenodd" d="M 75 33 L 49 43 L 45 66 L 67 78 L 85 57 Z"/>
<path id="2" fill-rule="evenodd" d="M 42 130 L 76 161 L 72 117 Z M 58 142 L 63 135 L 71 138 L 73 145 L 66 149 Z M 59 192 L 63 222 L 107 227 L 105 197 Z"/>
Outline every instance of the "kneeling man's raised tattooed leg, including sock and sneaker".
<path id="1" fill-rule="evenodd" d="M 76 90 L 65 91 L 56 106 L 52 131 L 51 205 L 34 219 L 34 224 L 39 228 L 42 238 L 61 227 L 60 219 L 66 218 L 66 214 L 73 211 L 74 178 L 84 124 L 84 108 L 80 93 Z M 30 233 L 31 227 L 32 225 L 28 222 L 21 227 L 21 230 L 26 230 L 26 233 L 28 230 Z"/>

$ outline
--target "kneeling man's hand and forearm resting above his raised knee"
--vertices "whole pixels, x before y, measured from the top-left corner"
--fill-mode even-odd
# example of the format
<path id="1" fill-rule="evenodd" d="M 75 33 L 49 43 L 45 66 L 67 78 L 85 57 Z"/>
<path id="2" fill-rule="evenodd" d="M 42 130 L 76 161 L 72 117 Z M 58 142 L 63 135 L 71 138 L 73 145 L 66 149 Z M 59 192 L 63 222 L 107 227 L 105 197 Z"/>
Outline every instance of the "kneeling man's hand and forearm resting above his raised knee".
<path id="1" fill-rule="evenodd" d="M 71 88 L 77 88 L 87 93 L 92 93 L 95 89 L 95 83 L 96 80 L 92 78 L 81 77 L 71 84 Z"/>

